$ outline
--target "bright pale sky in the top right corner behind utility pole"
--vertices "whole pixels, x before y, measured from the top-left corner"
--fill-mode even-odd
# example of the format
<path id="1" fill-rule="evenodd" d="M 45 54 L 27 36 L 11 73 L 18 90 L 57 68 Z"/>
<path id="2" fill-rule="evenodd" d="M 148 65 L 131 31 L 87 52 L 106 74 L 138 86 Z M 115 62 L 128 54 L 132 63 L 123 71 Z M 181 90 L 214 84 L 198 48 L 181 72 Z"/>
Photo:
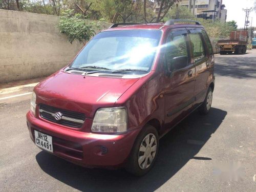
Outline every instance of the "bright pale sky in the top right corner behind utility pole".
<path id="1" fill-rule="evenodd" d="M 253 8 L 254 0 L 222 0 L 222 4 L 225 4 L 227 9 L 227 22 L 229 22 L 230 20 L 235 20 L 237 22 L 238 28 L 244 28 L 245 12 L 242 9 L 251 8 L 251 7 Z M 256 27 L 255 11 L 250 12 L 250 15 L 249 15 L 250 25 L 251 25 L 251 17 L 253 17 L 252 26 Z"/>

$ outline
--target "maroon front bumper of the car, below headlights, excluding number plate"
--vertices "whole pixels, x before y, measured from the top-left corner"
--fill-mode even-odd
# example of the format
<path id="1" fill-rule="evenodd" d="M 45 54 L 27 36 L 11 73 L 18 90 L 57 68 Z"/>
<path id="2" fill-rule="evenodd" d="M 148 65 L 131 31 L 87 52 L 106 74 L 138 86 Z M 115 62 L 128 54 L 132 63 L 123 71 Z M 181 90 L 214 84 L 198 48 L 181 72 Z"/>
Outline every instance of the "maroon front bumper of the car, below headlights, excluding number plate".
<path id="1" fill-rule="evenodd" d="M 53 154 L 86 167 L 122 166 L 129 156 L 140 129 L 122 135 L 103 135 L 67 129 L 27 113 L 30 138 L 34 130 L 53 137 Z"/>

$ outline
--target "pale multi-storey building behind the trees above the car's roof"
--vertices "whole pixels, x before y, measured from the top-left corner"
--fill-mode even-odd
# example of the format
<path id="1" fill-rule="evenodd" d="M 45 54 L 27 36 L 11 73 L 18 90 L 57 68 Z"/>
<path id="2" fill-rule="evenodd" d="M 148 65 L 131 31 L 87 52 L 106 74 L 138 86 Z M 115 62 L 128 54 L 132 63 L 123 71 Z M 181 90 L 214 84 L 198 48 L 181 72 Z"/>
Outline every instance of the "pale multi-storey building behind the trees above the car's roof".
<path id="1" fill-rule="evenodd" d="M 220 19 L 226 22 L 227 10 L 222 0 L 182 0 L 180 6 L 190 7 L 195 17 L 205 19 Z"/>

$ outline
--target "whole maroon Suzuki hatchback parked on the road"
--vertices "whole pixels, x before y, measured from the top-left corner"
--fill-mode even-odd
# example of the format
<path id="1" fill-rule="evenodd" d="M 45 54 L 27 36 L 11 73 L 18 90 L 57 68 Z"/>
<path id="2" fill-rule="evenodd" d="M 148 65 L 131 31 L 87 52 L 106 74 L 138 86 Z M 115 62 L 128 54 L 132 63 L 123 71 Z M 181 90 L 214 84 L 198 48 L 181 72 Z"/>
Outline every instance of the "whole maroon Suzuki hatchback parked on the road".
<path id="1" fill-rule="evenodd" d="M 143 175 L 159 138 L 194 110 L 209 112 L 214 83 L 200 23 L 114 24 L 34 88 L 30 137 L 72 163 Z"/>

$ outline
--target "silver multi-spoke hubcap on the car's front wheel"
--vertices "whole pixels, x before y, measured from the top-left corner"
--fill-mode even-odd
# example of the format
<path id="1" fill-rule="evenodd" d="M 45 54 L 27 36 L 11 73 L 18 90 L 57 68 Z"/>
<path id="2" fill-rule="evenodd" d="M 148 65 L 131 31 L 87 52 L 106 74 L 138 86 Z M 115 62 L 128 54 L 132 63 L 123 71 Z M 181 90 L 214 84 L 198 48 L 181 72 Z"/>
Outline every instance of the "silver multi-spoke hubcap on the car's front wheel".
<path id="1" fill-rule="evenodd" d="M 141 169 L 149 167 L 156 155 L 157 139 L 153 133 L 147 134 L 139 148 L 138 164 Z"/>

